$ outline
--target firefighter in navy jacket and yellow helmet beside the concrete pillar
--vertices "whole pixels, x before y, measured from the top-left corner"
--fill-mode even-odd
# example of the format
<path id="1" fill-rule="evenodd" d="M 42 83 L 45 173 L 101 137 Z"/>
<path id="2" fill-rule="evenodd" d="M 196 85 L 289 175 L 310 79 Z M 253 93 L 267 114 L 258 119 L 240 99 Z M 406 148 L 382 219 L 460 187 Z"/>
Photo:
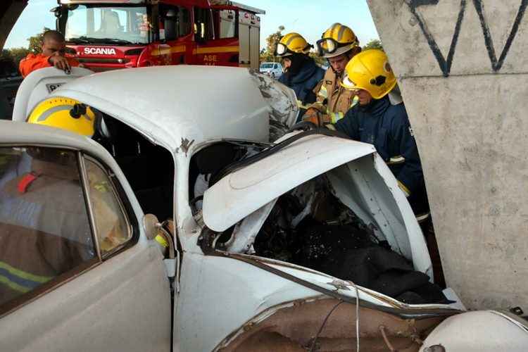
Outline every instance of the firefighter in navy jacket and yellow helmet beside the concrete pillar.
<path id="1" fill-rule="evenodd" d="M 374 144 L 408 197 L 417 220 L 427 220 L 422 163 L 403 102 L 393 105 L 389 100 L 396 77 L 384 52 L 372 49 L 354 56 L 341 84 L 358 96 L 358 104 L 337 121 L 335 129 L 351 139 Z"/>

